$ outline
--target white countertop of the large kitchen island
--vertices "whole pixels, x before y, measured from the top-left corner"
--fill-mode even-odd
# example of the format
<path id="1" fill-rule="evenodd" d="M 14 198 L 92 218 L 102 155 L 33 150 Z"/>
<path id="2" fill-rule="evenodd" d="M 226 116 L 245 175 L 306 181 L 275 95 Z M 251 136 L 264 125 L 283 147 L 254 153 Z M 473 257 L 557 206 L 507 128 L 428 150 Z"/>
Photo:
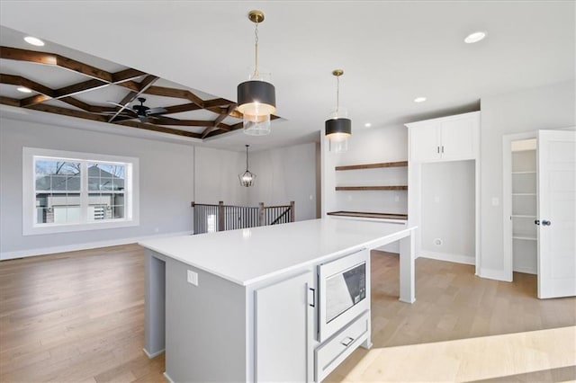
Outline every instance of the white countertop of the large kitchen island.
<path id="1" fill-rule="evenodd" d="M 387 245 L 410 230 L 403 223 L 322 218 L 150 239 L 139 245 L 247 286 L 338 254 Z"/>

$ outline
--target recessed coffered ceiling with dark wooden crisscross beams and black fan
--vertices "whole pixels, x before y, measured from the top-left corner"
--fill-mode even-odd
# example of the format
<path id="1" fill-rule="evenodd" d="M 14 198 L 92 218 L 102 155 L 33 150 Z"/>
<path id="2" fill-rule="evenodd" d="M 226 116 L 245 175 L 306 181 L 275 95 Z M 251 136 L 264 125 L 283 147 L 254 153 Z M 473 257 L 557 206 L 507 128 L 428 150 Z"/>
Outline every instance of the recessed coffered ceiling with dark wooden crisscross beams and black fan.
<path id="1" fill-rule="evenodd" d="M 236 102 L 0 28 L 1 104 L 197 139 L 242 128 Z"/>

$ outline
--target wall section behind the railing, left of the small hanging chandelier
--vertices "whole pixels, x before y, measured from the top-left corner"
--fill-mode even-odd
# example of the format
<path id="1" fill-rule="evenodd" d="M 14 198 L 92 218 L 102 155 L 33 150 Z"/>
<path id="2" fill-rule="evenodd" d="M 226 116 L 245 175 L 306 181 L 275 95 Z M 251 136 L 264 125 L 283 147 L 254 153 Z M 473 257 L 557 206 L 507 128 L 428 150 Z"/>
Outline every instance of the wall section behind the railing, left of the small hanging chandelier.
<path id="1" fill-rule="evenodd" d="M 245 153 L 210 147 L 195 147 L 195 202 L 213 205 L 222 200 L 226 205 L 246 206 L 248 189 L 250 188 L 240 185 L 238 181 L 238 174 L 245 170 Z M 254 172 L 251 166 L 250 172 Z M 259 178 L 258 174 L 257 182 Z"/>

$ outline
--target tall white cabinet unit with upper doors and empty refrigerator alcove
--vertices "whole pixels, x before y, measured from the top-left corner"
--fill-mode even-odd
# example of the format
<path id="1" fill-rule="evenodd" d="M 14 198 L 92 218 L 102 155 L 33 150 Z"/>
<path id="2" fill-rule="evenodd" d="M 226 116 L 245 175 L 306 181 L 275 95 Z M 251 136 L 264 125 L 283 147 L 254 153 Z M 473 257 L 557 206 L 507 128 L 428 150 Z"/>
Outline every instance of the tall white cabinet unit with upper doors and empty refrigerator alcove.
<path id="1" fill-rule="evenodd" d="M 416 255 L 476 264 L 480 254 L 480 111 L 406 124 L 408 218 Z"/>

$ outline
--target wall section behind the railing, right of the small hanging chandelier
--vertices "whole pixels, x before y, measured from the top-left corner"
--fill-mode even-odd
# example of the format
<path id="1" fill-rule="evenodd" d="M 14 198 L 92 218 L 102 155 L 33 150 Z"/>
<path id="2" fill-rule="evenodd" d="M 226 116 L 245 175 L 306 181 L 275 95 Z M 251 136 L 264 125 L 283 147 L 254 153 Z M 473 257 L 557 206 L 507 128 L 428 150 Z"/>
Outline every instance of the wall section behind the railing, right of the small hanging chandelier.
<path id="1" fill-rule="evenodd" d="M 295 202 L 297 221 L 317 218 L 316 143 L 250 153 L 256 183 L 248 189 L 248 205 Z M 244 156 L 242 156 L 244 158 Z"/>

